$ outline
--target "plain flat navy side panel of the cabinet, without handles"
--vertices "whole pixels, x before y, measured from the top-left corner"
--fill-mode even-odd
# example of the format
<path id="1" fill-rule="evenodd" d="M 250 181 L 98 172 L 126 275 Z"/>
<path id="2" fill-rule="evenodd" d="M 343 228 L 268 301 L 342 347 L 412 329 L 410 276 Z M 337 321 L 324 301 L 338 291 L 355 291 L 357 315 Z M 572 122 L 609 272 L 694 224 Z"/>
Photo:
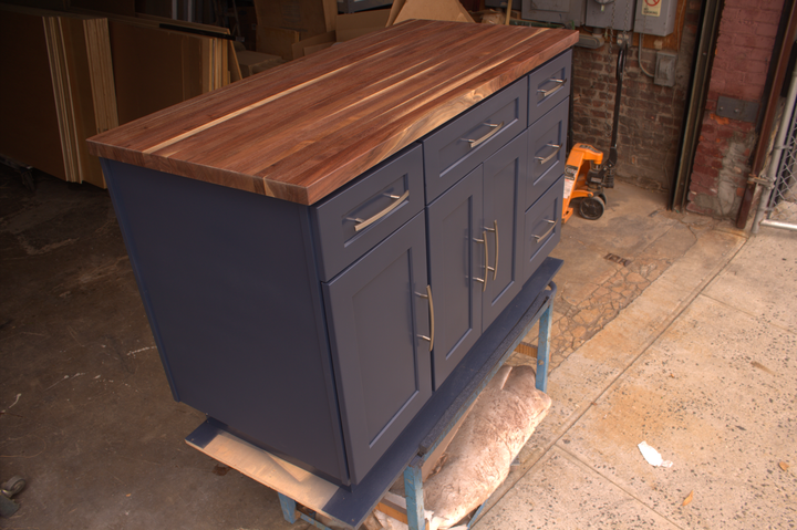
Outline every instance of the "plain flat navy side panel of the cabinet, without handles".
<path id="1" fill-rule="evenodd" d="M 180 401 L 342 482 L 307 207 L 104 162 Z"/>

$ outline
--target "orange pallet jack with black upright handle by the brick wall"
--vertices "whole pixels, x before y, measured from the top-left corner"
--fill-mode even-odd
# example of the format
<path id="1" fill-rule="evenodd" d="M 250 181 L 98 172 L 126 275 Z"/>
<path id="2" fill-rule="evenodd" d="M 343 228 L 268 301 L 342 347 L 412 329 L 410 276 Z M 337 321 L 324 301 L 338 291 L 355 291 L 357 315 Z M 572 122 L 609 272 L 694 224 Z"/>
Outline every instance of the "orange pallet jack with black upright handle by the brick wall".
<path id="1" fill-rule="evenodd" d="M 623 41 L 618 52 L 617 93 L 614 95 L 614 117 L 612 121 L 612 139 L 605 164 L 603 153 L 588 144 L 576 144 L 568 155 L 565 165 L 565 198 L 562 200 L 562 224 L 570 219 L 573 207 L 572 199 L 581 199 L 579 214 L 584 219 L 600 219 L 605 210 L 607 197 L 604 188 L 614 187 L 614 166 L 617 165 L 618 121 L 620 119 L 620 97 L 622 80 L 625 71 L 625 52 L 628 43 Z"/>

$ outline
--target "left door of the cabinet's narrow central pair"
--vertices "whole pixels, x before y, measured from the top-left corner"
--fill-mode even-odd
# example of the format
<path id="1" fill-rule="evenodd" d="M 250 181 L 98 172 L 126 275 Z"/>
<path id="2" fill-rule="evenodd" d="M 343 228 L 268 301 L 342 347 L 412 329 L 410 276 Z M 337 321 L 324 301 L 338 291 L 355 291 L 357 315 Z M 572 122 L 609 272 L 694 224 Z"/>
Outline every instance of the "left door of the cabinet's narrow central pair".
<path id="1" fill-rule="evenodd" d="M 482 334 L 487 263 L 478 166 L 427 207 L 429 283 L 434 298 L 434 387 Z"/>

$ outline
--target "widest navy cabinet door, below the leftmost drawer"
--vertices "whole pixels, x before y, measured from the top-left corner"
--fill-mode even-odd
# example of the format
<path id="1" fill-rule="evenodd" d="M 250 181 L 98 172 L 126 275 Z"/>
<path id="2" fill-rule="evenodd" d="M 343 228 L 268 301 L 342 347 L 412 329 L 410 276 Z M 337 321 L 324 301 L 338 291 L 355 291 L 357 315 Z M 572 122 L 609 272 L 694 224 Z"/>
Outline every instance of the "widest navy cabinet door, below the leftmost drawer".
<path id="1" fill-rule="evenodd" d="M 432 395 L 426 287 L 423 214 L 324 284 L 353 484 Z"/>

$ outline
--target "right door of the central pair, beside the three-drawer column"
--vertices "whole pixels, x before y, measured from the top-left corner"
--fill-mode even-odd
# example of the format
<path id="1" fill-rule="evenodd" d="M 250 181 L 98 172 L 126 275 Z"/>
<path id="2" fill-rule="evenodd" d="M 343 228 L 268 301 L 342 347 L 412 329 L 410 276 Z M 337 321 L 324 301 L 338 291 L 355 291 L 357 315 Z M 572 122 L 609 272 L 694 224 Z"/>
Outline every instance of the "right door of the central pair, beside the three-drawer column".
<path id="1" fill-rule="evenodd" d="M 483 301 L 488 325 L 522 287 L 522 201 L 526 197 L 527 137 L 524 132 L 484 165 L 484 216 L 491 270 Z"/>

